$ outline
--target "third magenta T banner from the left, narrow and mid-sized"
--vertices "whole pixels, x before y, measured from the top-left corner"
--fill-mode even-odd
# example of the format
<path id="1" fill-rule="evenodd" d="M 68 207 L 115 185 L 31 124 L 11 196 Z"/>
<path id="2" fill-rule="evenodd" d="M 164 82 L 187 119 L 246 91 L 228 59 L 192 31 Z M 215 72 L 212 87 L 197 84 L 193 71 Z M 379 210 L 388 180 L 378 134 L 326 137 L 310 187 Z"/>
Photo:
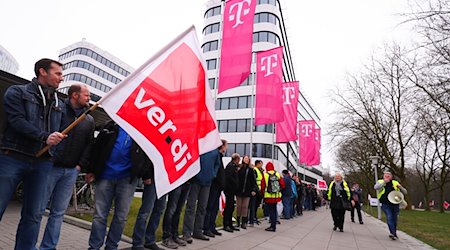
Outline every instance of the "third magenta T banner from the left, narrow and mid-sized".
<path id="1" fill-rule="evenodd" d="M 276 124 L 276 142 L 297 140 L 298 82 L 283 84 L 284 121 Z"/>

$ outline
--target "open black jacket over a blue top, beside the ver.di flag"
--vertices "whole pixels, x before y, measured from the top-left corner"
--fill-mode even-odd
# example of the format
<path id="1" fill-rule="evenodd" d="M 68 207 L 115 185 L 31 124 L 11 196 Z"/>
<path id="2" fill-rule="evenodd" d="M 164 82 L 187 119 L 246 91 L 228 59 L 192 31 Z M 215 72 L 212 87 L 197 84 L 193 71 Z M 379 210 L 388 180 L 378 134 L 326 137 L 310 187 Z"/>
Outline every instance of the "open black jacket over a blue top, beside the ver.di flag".
<path id="1" fill-rule="evenodd" d="M 92 146 L 88 173 L 93 173 L 96 178 L 103 173 L 118 134 L 119 125 L 114 121 L 109 121 L 100 130 Z M 131 145 L 131 163 L 131 175 L 133 177 L 154 180 L 153 163 L 134 140 Z"/>

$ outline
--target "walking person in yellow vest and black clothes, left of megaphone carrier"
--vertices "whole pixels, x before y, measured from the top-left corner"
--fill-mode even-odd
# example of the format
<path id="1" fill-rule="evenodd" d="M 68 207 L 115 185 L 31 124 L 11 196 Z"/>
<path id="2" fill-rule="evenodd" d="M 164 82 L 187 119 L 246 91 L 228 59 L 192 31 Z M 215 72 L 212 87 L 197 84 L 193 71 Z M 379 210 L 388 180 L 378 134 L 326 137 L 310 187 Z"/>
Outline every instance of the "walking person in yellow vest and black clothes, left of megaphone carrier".
<path id="1" fill-rule="evenodd" d="M 350 201 L 350 188 L 341 173 L 334 175 L 334 180 L 328 185 L 327 199 L 330 202 L 331 215 L 333 216 L 333 231 L 339 228 L 344 232 L 345 209 L 343 200 Z"/>

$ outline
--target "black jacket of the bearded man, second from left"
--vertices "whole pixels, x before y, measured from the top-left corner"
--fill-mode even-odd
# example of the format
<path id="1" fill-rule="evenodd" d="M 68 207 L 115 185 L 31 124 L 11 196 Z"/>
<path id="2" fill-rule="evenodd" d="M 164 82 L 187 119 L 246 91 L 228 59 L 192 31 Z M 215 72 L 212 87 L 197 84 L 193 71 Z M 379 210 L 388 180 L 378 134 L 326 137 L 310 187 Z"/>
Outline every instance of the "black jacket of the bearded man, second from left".
<path id="1" fill-rule="evenodd" d="M 64 127 L 67 127 L 78 117 L 70 105 L 69 99 L 65 101 L 65 104 L 67 124 Z M 53 156 L 54 165 L 65 168 L 74 168 L 76 165 L 80 165 L 81 169 L 85 171 L 89 164 L 94 128 L 94 118 L 87 115 L 67 134 L 67 138 L 56 146 L 56 152 Z"/>

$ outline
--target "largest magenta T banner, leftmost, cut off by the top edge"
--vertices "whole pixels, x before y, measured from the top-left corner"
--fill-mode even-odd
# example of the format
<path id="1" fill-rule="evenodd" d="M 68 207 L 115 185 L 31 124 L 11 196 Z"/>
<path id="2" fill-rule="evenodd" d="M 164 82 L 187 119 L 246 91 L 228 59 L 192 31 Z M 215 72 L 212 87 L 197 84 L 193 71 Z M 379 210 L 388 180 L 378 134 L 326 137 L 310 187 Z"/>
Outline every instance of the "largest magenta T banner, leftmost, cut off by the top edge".
<path id="1" fill-rule="evenodd" d="M 255 9 L 256 0 L 229 0 L 225 3 L 219 93 L 241 85 L 250 74 Z"/>

